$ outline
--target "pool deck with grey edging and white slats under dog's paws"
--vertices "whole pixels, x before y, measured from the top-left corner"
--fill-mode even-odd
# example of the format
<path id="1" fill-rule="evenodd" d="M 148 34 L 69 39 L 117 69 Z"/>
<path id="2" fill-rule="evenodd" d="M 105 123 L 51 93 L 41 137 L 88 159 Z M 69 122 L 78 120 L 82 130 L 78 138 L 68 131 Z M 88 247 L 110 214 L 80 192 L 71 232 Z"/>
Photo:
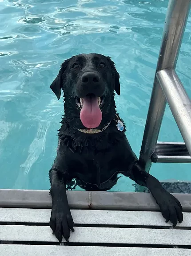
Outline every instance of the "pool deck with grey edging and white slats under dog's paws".
<path id="1" fill-rule="evenodd" d="M 175 194 L 184 220 L 173 228 L 149 193 L 67 193 L 75 232 L 59 244 L 47 190 L 0 190 L 0 256 L 191 255 L 191 194 Z"/>

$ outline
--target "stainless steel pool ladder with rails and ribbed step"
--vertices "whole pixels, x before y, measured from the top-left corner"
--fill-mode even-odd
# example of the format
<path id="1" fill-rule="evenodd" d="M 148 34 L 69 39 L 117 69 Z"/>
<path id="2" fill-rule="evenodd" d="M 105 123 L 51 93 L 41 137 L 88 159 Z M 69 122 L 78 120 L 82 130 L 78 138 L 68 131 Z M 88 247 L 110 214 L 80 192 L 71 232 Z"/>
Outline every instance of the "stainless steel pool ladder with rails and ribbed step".
<path id="1" fill-rule="evenodd" d="M 139 161 L 149 172 L 151 163 L 191 163 L 191 99 L 176 74 L 191 0 L 169 0 Z M 166 104 L 183 137 L 181 142 L 157 142 Z M 171 131 L 169 131 L 171 132 Z M 136 184 L 135 191 L 145 188 Z"/>

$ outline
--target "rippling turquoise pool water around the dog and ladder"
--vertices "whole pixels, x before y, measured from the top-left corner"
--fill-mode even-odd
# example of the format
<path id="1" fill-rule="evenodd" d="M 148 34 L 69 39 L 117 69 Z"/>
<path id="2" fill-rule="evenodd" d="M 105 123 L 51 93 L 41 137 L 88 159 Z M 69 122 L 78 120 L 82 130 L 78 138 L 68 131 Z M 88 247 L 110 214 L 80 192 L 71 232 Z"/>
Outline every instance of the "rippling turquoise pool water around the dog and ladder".
<path id="1" fill-rule="evenodd" d="M 62 101 L 49 86 L 64 59 L 110 55 L 120 74 L 116 97 L 139 155 L 167 0 L 0 0 L 0 188 L 49 189 Z M 191 15 L 177 71 L 191 96 Z M 159 140 L 183 141 L 167 107 Z M 153 164 L 160 181 L 191 181 L 190 164 Z M 113 191 L 134 191 L 122 177 Z"/>

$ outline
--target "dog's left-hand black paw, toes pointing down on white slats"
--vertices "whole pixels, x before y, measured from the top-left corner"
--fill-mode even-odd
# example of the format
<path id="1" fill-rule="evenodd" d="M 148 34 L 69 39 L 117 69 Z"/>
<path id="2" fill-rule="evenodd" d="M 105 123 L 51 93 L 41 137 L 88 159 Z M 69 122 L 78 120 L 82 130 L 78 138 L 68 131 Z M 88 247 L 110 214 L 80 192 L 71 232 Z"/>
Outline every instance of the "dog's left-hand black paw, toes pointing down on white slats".
<path id="1" fill-rule="evenodd" d="M 62 236 L 69 242 L 70 230 L 74 232 L 74 222 L 69 208 L 52 206 L 49 224 L 52 228 L 52 234 L 56 236 L 59 242 L 62 242 Z"/>

